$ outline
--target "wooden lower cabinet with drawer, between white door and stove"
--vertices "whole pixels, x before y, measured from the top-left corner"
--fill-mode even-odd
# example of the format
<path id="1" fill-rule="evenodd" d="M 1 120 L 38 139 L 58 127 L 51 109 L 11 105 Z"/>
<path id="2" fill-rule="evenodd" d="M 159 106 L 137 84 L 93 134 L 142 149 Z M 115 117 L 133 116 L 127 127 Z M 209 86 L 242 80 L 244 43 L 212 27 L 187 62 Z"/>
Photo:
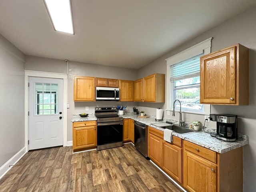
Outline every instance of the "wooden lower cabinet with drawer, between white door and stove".
<path id="1" fill-rule="evenodd" d="M 73 122 L 73 150 L 96 147 L 96 121 Z"/>

